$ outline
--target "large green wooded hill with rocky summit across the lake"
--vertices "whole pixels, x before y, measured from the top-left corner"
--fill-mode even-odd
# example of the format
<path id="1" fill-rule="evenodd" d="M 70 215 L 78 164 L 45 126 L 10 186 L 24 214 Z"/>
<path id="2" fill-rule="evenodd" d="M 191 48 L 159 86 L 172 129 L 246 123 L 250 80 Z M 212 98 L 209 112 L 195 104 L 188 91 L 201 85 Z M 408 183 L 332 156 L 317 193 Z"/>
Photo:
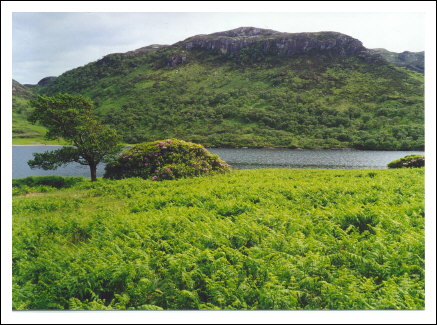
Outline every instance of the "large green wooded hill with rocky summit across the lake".
<path id="1" fill-rule="evenodd" d="M 423 75 L 336 32 L 241 27 L 109 54 L 33 90 L 83 94 L 128 143 L 423 149 Z"/>

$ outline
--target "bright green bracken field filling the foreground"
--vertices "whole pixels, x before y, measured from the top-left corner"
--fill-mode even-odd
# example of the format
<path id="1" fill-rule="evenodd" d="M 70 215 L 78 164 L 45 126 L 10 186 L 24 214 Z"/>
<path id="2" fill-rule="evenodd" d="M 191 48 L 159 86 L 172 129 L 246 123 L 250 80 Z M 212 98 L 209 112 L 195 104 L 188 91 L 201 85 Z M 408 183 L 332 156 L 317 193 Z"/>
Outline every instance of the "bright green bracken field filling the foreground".
<path id="1" fill-rule="evenodd" d="M 423 169 L 62 184 L 14 190 L 14 309 L 424 308 Z"/>

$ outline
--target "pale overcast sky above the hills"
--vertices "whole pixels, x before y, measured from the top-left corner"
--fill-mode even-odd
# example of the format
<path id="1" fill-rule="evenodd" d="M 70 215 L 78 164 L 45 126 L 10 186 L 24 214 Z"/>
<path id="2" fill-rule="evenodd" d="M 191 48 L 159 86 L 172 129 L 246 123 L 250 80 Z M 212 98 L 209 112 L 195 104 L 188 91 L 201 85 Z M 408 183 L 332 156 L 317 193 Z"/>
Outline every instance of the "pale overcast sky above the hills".
<path id="1" fill-rule="evenodd" d="M 316 9 L 316 8 L 315 8 Z M 13 78 L 35 84 L 109 53 L 241 26 L 336 31 L 367 48 L 423 51 L 422 13 L 13 13 Z"/>

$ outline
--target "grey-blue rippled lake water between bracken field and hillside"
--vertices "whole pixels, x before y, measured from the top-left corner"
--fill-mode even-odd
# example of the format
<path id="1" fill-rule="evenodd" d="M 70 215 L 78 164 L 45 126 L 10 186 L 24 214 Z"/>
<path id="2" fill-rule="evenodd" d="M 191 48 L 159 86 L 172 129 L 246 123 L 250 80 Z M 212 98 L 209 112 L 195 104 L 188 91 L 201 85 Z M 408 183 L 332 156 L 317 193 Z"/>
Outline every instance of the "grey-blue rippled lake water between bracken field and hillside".
<path id="1" fill-rule="evenodd" d="M 71 163 L 56 170 L 30 169 L 27 161 L 32 153 L 58 149 L 59 146 L 13 146 L 12 178 L 27 176 L 84 176 L 88 166 Z M 255 168 L 386 168 L 392 160 L 423 151 L 361 151 L 361 150 L 290 150 L 290 149 L 208 149 L 219 155 L 233 169 Z M 97 168 L 97 176 L 104 173 L 104 165 Z"/>

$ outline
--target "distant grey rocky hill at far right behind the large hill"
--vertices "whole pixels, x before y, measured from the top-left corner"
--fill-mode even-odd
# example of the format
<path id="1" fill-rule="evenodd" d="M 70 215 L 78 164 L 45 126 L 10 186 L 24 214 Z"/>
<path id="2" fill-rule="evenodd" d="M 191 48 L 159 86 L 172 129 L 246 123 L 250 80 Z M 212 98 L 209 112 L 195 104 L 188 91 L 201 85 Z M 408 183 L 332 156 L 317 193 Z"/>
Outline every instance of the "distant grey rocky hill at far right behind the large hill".
<path id="1" fill-rule="evenodd" d="M 398 67 L 404 67 L 420 73 L 425 72 L 425 52 L 409 52 L 402 53 L 390 52 L 386 49 L 371 49 L 371 52 L 381 55 L 389 63 Z"/>

